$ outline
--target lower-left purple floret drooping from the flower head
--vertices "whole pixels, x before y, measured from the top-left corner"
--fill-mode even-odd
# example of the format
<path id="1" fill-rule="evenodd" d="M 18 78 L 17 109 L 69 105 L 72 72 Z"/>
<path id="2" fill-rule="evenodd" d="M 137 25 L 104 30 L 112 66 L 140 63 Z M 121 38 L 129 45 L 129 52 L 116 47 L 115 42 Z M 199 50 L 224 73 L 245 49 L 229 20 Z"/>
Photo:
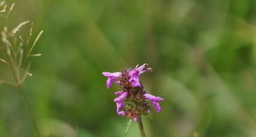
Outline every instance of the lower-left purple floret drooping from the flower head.
<path id="1" fill-rule="evenodd" d="M 123 94 L 121 92 L 116 92 L 117 95 L 121 95 L 118 96 L 118 98 L 114 99 L 114 102 L 116 102 L 116 113 L 118 113 L 119 115 L 124 116 L 124 112 L 120 111 L 122 107 L 124 107 L 124 100 L 125 98 L 127 98 L 128 96 L 128 92 L 124 92 Z"/>

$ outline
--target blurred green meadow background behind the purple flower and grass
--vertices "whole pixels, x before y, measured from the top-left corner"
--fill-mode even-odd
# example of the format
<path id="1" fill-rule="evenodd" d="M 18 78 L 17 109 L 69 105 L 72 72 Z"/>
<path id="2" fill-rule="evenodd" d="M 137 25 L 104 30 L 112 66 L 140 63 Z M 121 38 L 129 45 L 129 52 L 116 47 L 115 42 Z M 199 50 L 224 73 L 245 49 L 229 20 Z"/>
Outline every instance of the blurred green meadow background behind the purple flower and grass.
<path id="1" fill-rule="evenodd" d="M 34 21 L 33 39 L 44 30 L 23 85 L 44 136 L 139 136 L 136 123 L 124 134 L 118 86 L 107 90 L 101 72 L 143 63 L 154 69 L 145 87 L 165 99 L 143 117 L 149 137 L 256 136 L 256 1 L 12 2 L 10 27 Z M 36 136 L 17 92 L 0 85 L 0 136 Z"/>

